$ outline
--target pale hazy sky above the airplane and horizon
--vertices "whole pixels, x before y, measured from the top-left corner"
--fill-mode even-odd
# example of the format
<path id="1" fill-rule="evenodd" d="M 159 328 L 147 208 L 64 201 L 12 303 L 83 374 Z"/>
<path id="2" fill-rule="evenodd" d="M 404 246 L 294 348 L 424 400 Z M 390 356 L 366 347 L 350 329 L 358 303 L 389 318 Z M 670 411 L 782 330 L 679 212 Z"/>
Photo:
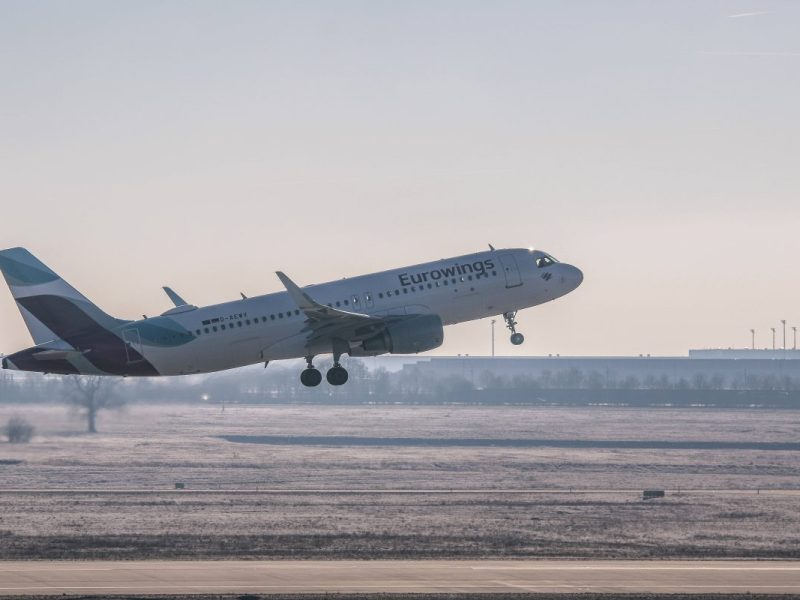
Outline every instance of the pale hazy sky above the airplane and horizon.
<path id="1" fill-rule="evenodd" d="M 771 345 L 799 31 L 794 0 L 0 0 L 0 246 L 127 318 L 534 246 L 584 284 L 498 353 Z M 0 351 L 30 343 L 0 291 Z"/>

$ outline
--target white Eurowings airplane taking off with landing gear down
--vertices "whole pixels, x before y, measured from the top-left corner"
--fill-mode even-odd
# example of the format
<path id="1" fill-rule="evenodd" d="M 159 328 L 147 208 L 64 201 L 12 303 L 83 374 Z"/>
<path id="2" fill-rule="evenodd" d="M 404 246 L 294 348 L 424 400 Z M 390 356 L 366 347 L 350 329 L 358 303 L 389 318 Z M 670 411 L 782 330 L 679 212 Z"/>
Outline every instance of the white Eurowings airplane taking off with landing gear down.
<path id="1" fill-rule="evenodd" d="M 517 311 L 560 298 L 583 281 L 577 267 L 540 250 L 489 250 L 298 286 L 197 307 L 170 287 L 174 306 L 130 321 L 105 313 L 24 248 L 0 251 L 0 270 L 30 331 L 33 347 L 4 357 L 4 369 L 55 374 L 155 377 L 222 371 L 305 358 L 303 385 L 322 374 L 313 360 L 333 355 L 328 383 L 347 382 L 345 354 L 414 354 L 444 341 L 444 326 L 502 315 L 511 343 Z"/>

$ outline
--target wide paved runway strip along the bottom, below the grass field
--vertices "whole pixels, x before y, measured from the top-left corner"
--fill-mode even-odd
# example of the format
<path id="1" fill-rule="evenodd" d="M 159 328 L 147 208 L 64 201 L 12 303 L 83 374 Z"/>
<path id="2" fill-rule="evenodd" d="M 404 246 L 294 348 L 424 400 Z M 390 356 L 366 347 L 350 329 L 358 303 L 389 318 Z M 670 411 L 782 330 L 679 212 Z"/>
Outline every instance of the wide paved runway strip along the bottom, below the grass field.
<path id="1" fill-rule="evenodd" d="M 199 593 L 800 594 L 793 561 L 6 561 L 0 595 Z"/>

